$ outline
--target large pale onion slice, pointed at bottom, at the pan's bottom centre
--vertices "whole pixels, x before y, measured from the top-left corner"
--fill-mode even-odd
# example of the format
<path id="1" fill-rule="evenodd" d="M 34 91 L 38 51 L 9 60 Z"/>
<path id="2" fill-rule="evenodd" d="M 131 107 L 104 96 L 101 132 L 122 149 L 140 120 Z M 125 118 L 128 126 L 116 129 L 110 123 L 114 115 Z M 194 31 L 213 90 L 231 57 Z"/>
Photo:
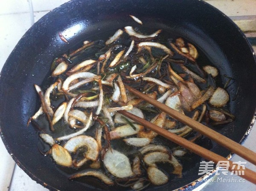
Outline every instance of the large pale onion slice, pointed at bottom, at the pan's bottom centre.
<path id="1" fill-rule="evenodd" d="M 103 163 L 115 177 L 126 178 L 134 175 L 128 157 L 117 150 L 109 149 L 104 155 Z"/>

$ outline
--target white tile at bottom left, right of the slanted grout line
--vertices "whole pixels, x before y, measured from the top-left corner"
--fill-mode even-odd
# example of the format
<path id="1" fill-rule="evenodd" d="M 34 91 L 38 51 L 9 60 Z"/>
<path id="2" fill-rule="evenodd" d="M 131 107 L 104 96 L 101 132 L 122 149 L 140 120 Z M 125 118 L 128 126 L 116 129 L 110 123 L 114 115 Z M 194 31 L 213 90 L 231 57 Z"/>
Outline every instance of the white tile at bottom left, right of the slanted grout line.
<path id="1" fill-rule="evenodd" d="M 32 180 L 19 166 L 15 166 L 9 191 L 49 191 Z"/>

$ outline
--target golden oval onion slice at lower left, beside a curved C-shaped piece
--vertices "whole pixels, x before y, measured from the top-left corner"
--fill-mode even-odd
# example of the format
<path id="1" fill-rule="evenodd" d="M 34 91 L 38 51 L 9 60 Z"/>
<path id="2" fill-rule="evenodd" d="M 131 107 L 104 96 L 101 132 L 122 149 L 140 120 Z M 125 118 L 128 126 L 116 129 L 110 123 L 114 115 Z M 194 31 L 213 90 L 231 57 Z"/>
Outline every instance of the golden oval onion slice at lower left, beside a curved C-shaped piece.
<path id="1" fill-rule="evenodd" d="M 70 153 L 67 151 L 67 149 L 58 144 L 52 146 L 52 158 L 58 165 L 65 167 L 72 166 L 72 158 Z"/>

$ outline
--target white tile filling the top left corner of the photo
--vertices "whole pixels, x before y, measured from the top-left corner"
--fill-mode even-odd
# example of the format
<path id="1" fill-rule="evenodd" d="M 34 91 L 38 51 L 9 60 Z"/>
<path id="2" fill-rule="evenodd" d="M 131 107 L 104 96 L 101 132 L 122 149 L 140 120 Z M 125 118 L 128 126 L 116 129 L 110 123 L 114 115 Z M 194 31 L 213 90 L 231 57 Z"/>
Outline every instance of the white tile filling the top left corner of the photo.
<path id="1" fill-rule="evenodd" d="M 1 1 L 0 14 L 24 13 L 29 11 L 29 0 Z"/>

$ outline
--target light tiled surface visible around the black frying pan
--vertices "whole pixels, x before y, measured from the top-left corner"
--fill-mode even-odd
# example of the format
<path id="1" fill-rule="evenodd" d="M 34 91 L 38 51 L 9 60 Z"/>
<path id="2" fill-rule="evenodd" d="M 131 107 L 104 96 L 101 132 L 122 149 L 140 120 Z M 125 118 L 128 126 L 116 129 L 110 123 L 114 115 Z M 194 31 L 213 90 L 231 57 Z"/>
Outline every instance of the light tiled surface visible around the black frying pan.
<path id="1" fill-rule="evenodd" d="M 8 0 L 1 2 L 0 6 L 0 69 L 3 67 L 8 55 L 19 39 L 30 26 L 44 14 L 66 3 L 68 0 Z M 238 22 L 245 29 L 256 28 L 256 0 L 206 0 L 207 3 L 220 9 L 228 16 L 251 16 L 249 24 Z M 247 17 L 244 17 L 247 18 Z M 245 146 L 256 151 L 256 125 L 254 125 Z M 30 179 L 15 163 L 0 140 L 0 191 L 47 191 L 46 188 Z M 233 160 L 242 160 L 235 156 Z M 248 164 L 249 168 L 256 170 L 255 166 Z M 14 171 L 13 171 L 14 170 Z M 219 186 L 221 186 L 219 188 Z M 208 185 L 205 190 L 231 189 L 239 191 L 256 190 L 256 186 L 249 182 L 245 184 L 218 184 Z"/>

